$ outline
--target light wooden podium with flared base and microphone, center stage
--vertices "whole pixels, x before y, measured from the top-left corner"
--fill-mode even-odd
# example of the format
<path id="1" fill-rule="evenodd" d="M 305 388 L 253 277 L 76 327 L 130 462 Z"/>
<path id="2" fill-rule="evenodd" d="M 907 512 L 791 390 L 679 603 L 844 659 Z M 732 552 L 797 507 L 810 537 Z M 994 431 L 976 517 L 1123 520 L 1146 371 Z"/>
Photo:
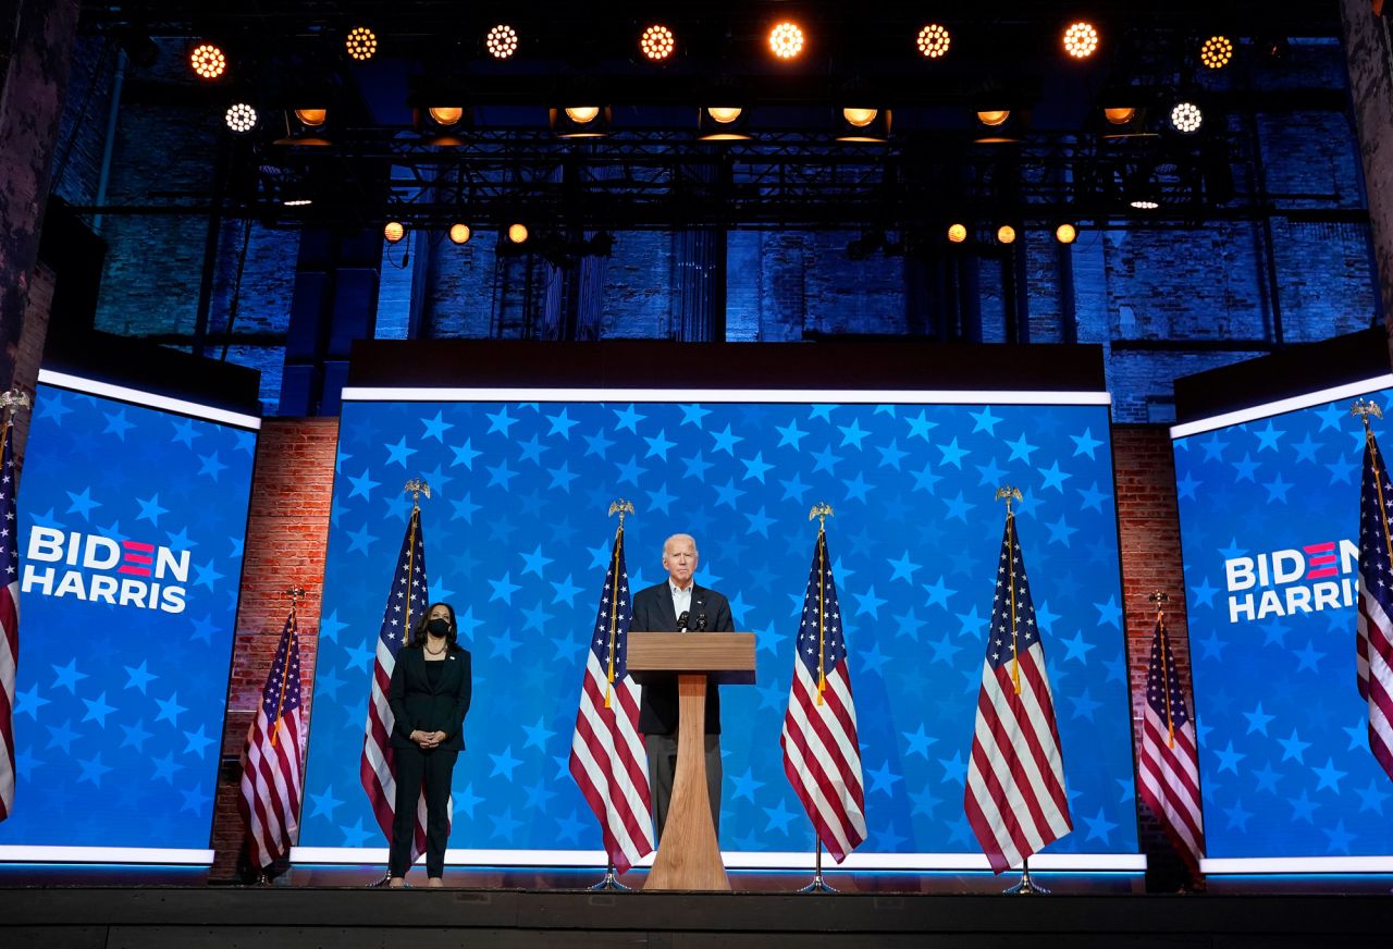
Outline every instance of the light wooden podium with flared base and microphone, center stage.
<path id="1" fill-rule="evenodd" d="M 706 790 L 706 688 L 754 684 L 755 634 L 630 631 L 627 665 L 641 686 L 677 676 L 677 773 L 644 889 L 729 892 Z"/>

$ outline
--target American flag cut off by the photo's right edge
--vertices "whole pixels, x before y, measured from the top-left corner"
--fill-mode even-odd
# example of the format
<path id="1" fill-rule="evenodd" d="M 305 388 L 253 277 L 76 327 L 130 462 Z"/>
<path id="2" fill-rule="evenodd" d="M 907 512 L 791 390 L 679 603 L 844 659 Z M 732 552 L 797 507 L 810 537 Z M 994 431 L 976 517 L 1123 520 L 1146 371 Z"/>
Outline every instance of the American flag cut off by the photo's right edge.
<path id="1" fill-rule="evenodd" d="M 1365 419 L 1368 421 L 1368 419 Z M 1373 432 L 1364 443 L 1360 497 L 1360 619 L 1357 666 L 1360 698 L 1369 704 L 1369 751 L 1393 778 L 1393 481 Z"/>

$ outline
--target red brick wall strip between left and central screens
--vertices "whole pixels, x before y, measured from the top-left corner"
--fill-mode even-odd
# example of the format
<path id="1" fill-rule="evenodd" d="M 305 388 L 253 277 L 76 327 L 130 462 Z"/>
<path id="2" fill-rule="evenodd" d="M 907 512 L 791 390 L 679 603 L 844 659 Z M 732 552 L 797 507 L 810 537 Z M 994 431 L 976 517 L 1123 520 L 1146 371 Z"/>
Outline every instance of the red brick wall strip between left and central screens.
<path id="1" fill-rule="evenodd" d="M 290 601 L 284 591 L 288 587 L 308 591 L 299 606 L 299 633 L 304 694 L 311 697 L 337 445 L 336 418 L 270 419 L 258 439 L 233 679 L 215 797 L 212 879 L 237 877 L 244 838 L 237 814 L 240 757 L 286 624 Z M 312 707 L 312 700 L 309 704 Z"/>

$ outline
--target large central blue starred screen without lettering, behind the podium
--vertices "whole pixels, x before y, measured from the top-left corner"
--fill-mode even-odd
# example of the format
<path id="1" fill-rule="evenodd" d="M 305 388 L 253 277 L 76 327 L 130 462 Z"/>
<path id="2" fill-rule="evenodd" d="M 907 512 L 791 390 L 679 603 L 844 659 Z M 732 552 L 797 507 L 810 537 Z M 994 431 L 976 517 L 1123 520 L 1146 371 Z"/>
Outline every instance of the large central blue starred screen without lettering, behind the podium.
<path id="1" fill-rule="evenodd" d="M 1075 831 L 1135 853 L 1130 707 L 1106 406 L 351 401 L 343 410 L 301 844 L 380 847 L 358 782 L 369 673 L 423 475 L 430 594 L 474 654 L 456 849 L 599 850 L 567 769 L 616 497 L 631 589 L 695 535 L 698 582 L 758 635 L 722 690 L 722 846 L 812 849 L 779 733 L 816 524 L 850 649 L 869 838 L 859 853 L 978 853 L 963 814 L 1004 509 L 1045 631 Z"/>

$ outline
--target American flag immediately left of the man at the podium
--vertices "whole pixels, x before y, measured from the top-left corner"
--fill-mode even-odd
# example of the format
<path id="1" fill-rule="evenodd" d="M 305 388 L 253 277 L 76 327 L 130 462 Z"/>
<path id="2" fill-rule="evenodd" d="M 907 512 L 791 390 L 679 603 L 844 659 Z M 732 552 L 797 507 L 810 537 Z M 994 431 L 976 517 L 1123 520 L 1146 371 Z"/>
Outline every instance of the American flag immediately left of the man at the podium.
<path id="1" fill-rule="evenodd" d="M 605 573 L 571 737 L 571 776 L 595 811 L 605 851 L 621 874 L 653 851 L 648 757 L 638 733 L 639 686 L 625 662 L 632 619 L 621 524 Z"/>

